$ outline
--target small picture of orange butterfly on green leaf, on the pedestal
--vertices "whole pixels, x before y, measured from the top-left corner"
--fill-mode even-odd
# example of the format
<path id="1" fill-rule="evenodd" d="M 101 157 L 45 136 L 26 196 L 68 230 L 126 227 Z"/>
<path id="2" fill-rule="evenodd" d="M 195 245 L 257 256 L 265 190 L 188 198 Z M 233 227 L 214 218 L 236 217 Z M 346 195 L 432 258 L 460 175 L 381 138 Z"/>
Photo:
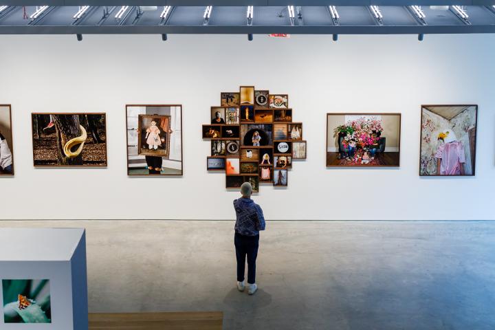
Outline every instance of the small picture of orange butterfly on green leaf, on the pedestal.
<path id="1" fill-rule="evenodd" d="M 3 322 L 52 323 L 50 280 L 13 279 L 1 283 Z"/>

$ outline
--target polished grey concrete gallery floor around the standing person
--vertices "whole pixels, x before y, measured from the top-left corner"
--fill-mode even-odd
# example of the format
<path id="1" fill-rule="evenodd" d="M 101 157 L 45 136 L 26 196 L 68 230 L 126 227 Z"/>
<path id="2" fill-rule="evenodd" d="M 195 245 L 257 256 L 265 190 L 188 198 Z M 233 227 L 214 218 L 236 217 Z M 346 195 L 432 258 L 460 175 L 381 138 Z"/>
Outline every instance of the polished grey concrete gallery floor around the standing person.
<path id="1" fill-rule="evenodd" d="M 1 221 L 87 228 L 90 311 L 224 311 L 224 329 L 495 329 L 495 222 L 271 221 L 259 292 L 231 221 Z"/>

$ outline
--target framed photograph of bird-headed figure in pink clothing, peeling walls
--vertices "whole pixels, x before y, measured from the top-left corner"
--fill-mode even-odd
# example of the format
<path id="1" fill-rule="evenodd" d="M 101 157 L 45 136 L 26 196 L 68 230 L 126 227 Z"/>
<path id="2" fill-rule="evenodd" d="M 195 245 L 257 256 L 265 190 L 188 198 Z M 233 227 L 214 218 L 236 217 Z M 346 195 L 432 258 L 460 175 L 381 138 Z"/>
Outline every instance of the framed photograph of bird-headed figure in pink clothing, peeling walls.
<path id="1" fill-rule="evenodd" d="M 474 104 L 421 106 L 419 175 L 474 175 L 477 124 Z"/>

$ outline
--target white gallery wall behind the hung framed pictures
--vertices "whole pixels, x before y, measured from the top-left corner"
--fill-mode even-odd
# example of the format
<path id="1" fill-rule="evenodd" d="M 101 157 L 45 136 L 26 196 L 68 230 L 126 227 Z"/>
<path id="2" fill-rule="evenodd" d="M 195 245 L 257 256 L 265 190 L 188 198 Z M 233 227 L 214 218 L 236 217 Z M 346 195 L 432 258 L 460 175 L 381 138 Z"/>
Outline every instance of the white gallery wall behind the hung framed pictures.
<path id="1" fill-rule="evenodd" d="M 495 219 L 495 36 L 0 36 L 14 177 L 0 219 L 232 219 L 201 139 L 221 91 L 289 94 L 308 158 L 261 186 L 267 219 Z M 125 104 L 182 104 L 184 175 L 126 175 Z M 476 177 L 419 177 L 421 104 L 478 104 Z M 107 113 L 107 168 L 34 168 L 32 112 Z M 400 168 L 326 168 L 327 112 L 402 114 Z M 153 187 L 166 192 L 150 199 Z"/>

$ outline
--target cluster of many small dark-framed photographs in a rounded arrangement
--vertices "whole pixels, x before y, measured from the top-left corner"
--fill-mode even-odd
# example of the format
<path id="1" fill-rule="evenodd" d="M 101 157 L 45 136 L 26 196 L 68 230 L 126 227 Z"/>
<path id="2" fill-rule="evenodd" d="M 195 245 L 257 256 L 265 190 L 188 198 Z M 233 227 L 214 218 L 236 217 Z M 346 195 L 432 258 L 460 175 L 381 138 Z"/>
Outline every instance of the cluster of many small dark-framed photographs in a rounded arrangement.
<path id="1" fill-rule="evenodd" d="M 210 140 L 208 170 L 225 171 L 225 187 L 239 188 L 250 182 L 287 186 L 294 159 L 306 159 L 303 123 L 293 122 L 287 94 L 270 94 L 254 86 L 239 92 L 222 92 L 220 106 L 211 107 L 210 124 L 202 126 Z"/>

